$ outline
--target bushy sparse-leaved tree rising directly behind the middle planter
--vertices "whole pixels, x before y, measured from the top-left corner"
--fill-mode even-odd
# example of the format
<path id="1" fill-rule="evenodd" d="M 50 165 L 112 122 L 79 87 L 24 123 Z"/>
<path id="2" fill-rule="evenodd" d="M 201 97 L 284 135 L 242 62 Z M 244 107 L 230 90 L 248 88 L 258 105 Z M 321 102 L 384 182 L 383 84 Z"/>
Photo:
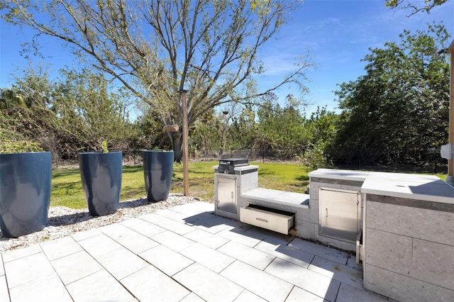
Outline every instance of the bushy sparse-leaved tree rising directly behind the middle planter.
<path id="1" fill-rule="evenodd" d="M 55 88 L 53 110 L 67 135 L 83 142 L 82 150 L 101 150 L 106 140 L 109 149 L 128 149 L 134 134 L 128 105 L 132 97 L 123 89 L 109 89 L 101 74 L 88 69 L 62 71 L 64 79 Z M 63 134 L 62 134 L 63 135 Z M 76 151 L 76 150 L 73 150 Z"/>

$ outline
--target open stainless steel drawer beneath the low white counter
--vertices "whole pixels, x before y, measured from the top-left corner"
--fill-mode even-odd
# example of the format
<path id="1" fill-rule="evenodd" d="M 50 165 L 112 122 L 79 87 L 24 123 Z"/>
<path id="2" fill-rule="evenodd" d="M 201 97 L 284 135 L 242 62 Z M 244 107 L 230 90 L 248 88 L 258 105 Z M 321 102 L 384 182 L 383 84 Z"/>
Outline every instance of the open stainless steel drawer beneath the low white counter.
<path id="1" fill-rule="evenodd" d="M 294 227 L 294 213 L 250 204 L 240 208 L 240 221 L 278 233 L 288 234 Z"/>

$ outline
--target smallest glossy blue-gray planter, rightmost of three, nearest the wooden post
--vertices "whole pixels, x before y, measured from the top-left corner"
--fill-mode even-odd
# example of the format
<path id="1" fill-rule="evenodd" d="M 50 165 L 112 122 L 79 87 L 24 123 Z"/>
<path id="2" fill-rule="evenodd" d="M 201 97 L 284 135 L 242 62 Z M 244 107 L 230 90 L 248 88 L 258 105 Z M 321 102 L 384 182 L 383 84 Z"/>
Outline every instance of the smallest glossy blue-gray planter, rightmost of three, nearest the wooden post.
<path id="1" fill-rule="evenodd" d="M 163 201 L 169 196 L 173 160 L 172 151 L 143 152 L 143 177 L 148 201 Z"/>

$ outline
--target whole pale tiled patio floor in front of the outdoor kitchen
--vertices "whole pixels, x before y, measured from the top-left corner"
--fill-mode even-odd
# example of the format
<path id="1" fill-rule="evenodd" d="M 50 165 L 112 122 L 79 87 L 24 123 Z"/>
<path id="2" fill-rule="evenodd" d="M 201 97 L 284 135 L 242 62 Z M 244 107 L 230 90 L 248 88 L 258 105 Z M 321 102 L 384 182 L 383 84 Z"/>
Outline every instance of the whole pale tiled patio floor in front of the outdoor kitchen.
<path id="1" fill-rule="evenodd" d="M 189 203 L 1 255 L 0 301 L 385 301 L 355 257 Z"/>

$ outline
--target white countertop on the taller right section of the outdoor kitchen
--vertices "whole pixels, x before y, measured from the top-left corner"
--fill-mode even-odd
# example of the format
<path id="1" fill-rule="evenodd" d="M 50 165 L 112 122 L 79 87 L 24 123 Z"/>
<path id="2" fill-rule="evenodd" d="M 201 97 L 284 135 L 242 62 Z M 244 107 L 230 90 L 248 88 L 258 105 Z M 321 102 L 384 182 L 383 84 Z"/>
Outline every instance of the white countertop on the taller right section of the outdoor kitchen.
<path id="1" fill-rule="evenodd" d="M 454 204 L 454 187 L 432 175 L 317 169 L 309 177 L 364 181 L 366 194 Z"/>

